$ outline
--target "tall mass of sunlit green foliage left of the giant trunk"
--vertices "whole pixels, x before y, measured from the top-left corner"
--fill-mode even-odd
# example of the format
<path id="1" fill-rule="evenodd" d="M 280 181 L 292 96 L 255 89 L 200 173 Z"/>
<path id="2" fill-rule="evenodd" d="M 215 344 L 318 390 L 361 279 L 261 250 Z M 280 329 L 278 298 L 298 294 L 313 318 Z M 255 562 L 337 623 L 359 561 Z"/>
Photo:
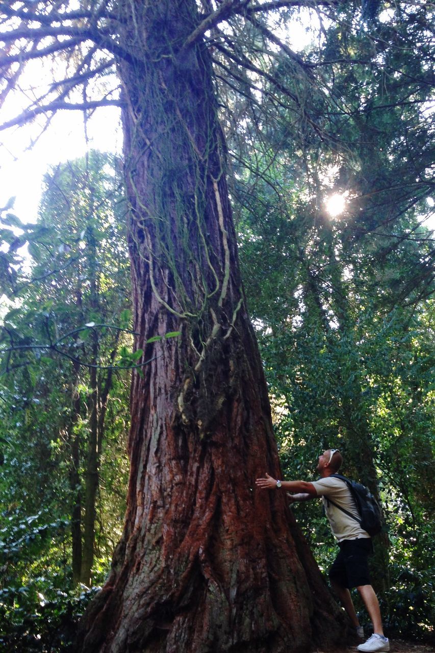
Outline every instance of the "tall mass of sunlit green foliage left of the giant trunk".
<path id="1" fill-rule="evenodd" d="M 114 157 L 90 153 L 86 161 L 50 171 L 39 222 L 21 226 L 30 263 L 16 249 L 7 252 L 16 275 L 7 289 L 13 303 L 3 311 L 0 338 L 5 650 L 71 650 L 74 624 L 88 601 L 88 592 L 73 588 L 72 522 L 77 506 L 81 527 L 85 515 L 93 383 L 100 402 L 101 479 L 94 586 L 103 582 L 121 534 L 129 377 L 112 367 L 120 347 L 131 352 L 132 336 L 115 163 Z M 10 217 L 3 223 L 20 227 Z M 95 381 L 91 366 L 98 368 Z"/>

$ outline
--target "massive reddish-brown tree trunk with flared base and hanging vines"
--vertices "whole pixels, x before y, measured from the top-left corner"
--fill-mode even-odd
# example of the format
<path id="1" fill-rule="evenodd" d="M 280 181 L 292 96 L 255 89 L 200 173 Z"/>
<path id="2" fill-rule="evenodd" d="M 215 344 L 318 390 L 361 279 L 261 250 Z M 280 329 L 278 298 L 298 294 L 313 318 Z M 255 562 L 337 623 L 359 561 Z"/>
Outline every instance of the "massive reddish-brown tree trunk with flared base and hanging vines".
<path id="1" fill-rule="evenodd" d="M 343 635 L 279 490 L 194 0 L 126 3 L 122 63 L 136 347 L 125 532 L 82 622 L 86 652 L 281 652 Z M 140 6 L 139 6 L 140 5 Z M 156 334 L 177 338 L 146 343 Z M 297 453 L 295 453 L 297 455 Z"/>

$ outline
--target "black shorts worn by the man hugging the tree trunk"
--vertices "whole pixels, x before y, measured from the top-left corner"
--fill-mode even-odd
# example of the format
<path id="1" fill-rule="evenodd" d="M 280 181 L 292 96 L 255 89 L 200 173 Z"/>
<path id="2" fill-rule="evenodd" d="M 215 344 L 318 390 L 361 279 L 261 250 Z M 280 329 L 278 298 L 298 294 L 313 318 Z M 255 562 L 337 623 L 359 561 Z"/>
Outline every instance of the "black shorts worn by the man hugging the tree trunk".
<path id="1" fill-rule="evenodd" d="M 338 546 L 340 551 L 329 569 L 331 581 L 349 590 L 360 585 L 371 585 L 368 556 L 372 554 L 373 547 L 370 537 L 344 539 Z"/>

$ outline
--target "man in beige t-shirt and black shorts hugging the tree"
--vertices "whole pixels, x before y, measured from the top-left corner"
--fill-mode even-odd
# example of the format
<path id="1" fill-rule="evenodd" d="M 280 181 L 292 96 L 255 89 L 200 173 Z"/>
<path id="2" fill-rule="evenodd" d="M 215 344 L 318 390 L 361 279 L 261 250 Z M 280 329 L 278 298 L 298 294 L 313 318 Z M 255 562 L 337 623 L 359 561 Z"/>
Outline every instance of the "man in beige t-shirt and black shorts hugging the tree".
<path id="1" fill-rule="evenodd" d="M 292 503 L 295 501 L 308 501 L 321 496 L 332 534 L 338 540 L 338 546 L 340 547 L 340 551 L 329 570 L 332 588 L 342 601 L 344 609 L 361 639 L 364 638 L 364 631 L 359 624 L 353 606 L 349 592 L 351 588 L 356 587 L 361 594 L 373 624 L 372 637 L 357 648 L 365 653 L 389 651 L 389 641 L 383 635 L 378 597 L 372 588 L 368 571 L 368 556 L 372 552 L 372 541 L 370 535 L 362 530 L 357 519 L 353 519 L 340 510 L 340 507 L 342 507 L 347 513 L 359 518 L 357 507 L 347 483 L 341 479 L 331 477 L 340 469 L 342 462 L 343 458 L 338 449 L 327 449 L 319 456 L 317 471 L 321 477 L 318 481 L 313 483 L 279 481 L 266 473 L 265 478 L 257 479 L 255 483 L 259 488 L 266 490 L 280 490 L 280 488 L 281 490 L 289 490 L 292 494 L 288 496 Z M 293 494 L 293 492 L 297 494 Z"/>

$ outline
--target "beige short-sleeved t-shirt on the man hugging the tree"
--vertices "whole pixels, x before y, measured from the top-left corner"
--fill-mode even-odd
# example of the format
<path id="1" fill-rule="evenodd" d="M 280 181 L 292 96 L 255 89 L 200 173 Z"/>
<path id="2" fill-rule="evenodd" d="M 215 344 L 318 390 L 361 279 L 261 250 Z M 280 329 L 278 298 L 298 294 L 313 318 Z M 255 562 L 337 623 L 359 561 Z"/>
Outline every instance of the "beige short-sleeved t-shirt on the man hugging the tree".
<path id="1" fill-rule="evenodd" d="M 313 481 L 312 484 L 315 487 L 317 495 L 322 498 L 323 505 L 325 506 L 325 513 L 329 519 L 330 528 L 332 530 L 332 535 L 334 535 L 339 542 L 343 539 L 370 537 L 370 535 L 361 528 L 355 519 L 352 519 L 349 515 L 346 515 L 342 510 L 327 501 L 329 497 L 334 503 L 342 505 L 342 507 L 344 507 L 344 509 L 349 513 L 355 515 L 355 517 L 359 517 L 351 492 L 344 481 L 328 476 L 325 479 Z"/>

